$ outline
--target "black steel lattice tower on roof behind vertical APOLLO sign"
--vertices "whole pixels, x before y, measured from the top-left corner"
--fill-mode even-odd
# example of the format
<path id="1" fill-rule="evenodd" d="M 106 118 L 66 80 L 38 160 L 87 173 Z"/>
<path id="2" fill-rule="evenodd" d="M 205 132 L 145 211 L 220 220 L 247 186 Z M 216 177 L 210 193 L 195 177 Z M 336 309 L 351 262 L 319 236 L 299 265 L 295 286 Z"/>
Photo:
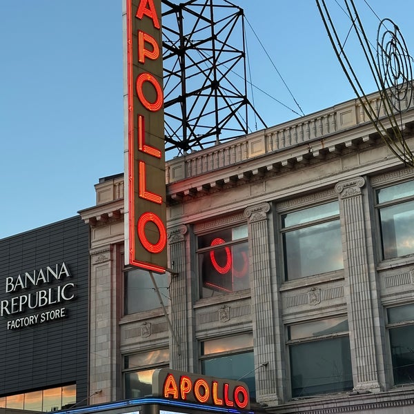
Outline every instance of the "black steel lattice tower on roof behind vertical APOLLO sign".
<path id="1" fill-rule="evenodd" d="M 227 0 L 162 0 L 166 151 L 248 132 L 244 12 Z"/>

